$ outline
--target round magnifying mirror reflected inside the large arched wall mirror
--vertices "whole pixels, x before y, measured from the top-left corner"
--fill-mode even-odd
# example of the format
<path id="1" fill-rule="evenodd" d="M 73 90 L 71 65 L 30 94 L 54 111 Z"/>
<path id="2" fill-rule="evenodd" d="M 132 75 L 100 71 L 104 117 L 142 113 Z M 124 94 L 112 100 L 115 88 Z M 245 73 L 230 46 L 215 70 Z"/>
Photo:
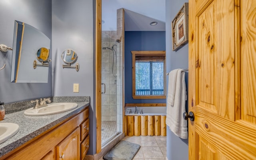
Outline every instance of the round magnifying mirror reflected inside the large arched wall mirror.
<path id="1" fill-rule="evenodd" d="M 38 64 L 36 60 L 34 60 L 33 63 L 33 68 L 36 69 L 37 66 L 49 66 L 49 62 L 51 62 L 52 60 L 49 60 L 49 53 L 50 50 L 47 48 L 40 48 L 37 52 L 36 52 L 36 58 L 37 60 L 39 60 L 42 64 Z"/>

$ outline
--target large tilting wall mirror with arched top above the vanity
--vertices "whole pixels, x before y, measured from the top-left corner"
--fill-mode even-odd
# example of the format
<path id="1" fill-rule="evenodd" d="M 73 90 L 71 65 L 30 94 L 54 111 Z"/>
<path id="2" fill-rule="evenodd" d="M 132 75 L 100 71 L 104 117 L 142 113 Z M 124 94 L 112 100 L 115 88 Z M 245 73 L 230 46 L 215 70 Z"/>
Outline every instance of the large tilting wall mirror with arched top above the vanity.
<path id="1" fill-rule="evenodd" d="M 38 58 L 38 51 L 40 58 Z M 37 63 L 50 62 L 50 39 L 40 30 L 24 22 L 15 20 L 11 82 L 15 83 L 47 83 L 48 65 Z M 34 62 L 36 61 L 36 62 Z M 38 67 L 34 67 L 35 63 Z"/>

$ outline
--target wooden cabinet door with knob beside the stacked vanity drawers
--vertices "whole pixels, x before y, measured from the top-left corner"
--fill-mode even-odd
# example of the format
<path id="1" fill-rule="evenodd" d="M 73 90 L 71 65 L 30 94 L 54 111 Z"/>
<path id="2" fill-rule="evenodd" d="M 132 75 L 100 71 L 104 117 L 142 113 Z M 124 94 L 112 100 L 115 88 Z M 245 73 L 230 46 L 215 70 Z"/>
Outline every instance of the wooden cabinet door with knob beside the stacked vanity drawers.
<path id="1" fill-rule="evenodd" d="M 57 160 L 80 160 L 80 127 L 60 142 L 56 150 Z"/>

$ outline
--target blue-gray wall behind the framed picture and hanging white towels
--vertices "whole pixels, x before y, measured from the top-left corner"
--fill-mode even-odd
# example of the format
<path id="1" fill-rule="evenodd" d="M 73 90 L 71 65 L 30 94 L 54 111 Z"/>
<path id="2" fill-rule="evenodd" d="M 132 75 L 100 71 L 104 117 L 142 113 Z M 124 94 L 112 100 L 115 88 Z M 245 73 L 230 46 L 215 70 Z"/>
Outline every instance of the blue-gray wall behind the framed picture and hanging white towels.
<path id="1" fill-rule="evenodd" d="M 171 22 L 182 5 L 188 0 L 166 0 L 166 28 L 172 28 Z M 170 72 L 176 68 L 188 68 L 188 44 L 179 50 L 172 51 L 172 31 L 166 29 L 166 71 Z M 168 82 L 168 77 L 166 79 Z M 186 84 L 188 88 L 188 74 L 186 73 Z M 188 92 L 188 90 L 187 90 Z M 168 160 L 188 160 L 188 139 L 181 139 L 173 134 L 169 127 L 167 129 L 167 158 Z"/>

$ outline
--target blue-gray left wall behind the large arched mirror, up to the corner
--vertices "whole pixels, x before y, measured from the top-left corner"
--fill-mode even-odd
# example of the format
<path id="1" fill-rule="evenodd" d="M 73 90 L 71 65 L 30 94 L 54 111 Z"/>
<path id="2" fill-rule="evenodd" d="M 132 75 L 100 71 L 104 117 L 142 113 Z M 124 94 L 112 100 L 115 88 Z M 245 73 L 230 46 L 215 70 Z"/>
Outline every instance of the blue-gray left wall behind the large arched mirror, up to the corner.
<path id="1" fill-rule="evenodd" d="M 51 0 L 1 0 L 0 1 L 0 44 L 12 47 L 14 20 L 25 22 L 42 31 L 52 39 Z M 35 53 L 36 54 L 36 53 Z M 50 59 L 52 58 L 50 50 Z M 31 63 L 31 67 L 33 62 Z M 4 103 L 52 96 L 52 63 L 48 83 L 10 83 L 12 51 L 0 52 L 0 100 Z"/>

